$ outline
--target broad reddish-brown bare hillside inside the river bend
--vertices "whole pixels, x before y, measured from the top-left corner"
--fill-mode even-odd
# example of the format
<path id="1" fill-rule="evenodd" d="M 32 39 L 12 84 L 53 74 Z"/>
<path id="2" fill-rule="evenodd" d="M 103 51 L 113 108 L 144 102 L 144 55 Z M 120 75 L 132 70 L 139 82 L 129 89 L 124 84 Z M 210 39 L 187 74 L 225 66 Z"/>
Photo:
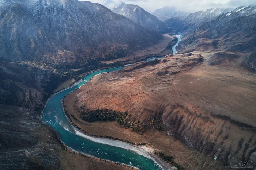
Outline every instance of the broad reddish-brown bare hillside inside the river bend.
<path id="1" fill-rule="evenodd" d="M 255 166 L 256 75 L 242 62 L 232 53 L 170 55 L 96 76 L 64 103 L 87 131 L 148 142 L 184 169 L 228 169 L 241 160 Z M 86 123 L 81 108 L 127 111 L 130 119 L 158 123 L 161 130 L 139 135 L 115 122 Z"/>

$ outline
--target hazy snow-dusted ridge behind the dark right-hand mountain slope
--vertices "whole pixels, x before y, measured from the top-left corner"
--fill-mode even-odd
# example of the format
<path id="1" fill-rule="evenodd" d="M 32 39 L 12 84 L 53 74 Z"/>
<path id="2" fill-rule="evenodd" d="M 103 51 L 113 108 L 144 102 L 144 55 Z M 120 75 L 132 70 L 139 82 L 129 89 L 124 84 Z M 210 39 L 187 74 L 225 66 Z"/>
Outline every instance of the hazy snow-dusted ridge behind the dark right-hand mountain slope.
<path id="1" fill-rule="evenodd" d="M 232 9 L 211 8 L 211 9 L 207 9 L 206 11 L 189 13 L 186 16 L 173 17 L 166 20 L 164 23 L 168 27 L 174 27 L 174 28 L 177 28 L 179 31 L 183 31 L 183 30 L 187 30 L 193 25 L 200 24 L 201 22 L 207 19 L 219 16 L 231 10 Z"/>

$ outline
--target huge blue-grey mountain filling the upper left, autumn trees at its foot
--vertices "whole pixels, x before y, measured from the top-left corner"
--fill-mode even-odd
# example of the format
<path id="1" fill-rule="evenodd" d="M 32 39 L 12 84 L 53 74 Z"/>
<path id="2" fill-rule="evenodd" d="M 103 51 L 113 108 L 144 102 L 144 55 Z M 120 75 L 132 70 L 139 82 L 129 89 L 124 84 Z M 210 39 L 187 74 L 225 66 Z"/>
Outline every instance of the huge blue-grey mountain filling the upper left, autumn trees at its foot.
<path id="1" fill-rule="evenodd" d="M 0 53 L 16 61 L 83 66 L 162 36 L 106 7 L 77 0 L 1 0 Z"/>

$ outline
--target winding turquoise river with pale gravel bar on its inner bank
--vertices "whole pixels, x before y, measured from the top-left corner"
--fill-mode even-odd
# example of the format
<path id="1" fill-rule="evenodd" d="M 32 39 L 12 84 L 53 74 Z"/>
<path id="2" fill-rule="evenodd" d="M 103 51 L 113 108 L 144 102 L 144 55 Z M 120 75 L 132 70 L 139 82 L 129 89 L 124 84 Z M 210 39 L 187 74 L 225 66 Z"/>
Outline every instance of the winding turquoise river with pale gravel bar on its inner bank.
<path id="1" fill-rule="evenodd" d="M 181 35 L 177 35 L 177 37 L 178 42 L 173 47 L 173 54 L 177 52 L 176 47 L 180 42 Z M 161 59 L 163 57 L 150 58 L 145 62 Z M 93 155 L 102 159 L 108 159 L 111 161 L 132 165 L 134 167 L 138 167 L 140 170 L 160 170 L 162 167 L 155 163 L 150 154 L 142 150 L 142 148 L 134 147 L 125 142 L 111 139 L 93 138 L 91 136 L 84 135 L 82 132 L 72 127 L 71 123 L 68 121 L 65 113 L 63 112 L 61 100 L 66 94 L 75 90 L 76 88 L 79 88 L 87 81 L 89 81 L 90 78 L 97 74 L 112 72 L 122 68 L 123 67 L 117 67 L 89 73 L 74 86 L 56 93 L 48 100 L 48 103 L 45 105 L 41 120 L 58 131 L 61 136 L 61 141 L 64 142 L 66 146 L 76 151 Z"/>

